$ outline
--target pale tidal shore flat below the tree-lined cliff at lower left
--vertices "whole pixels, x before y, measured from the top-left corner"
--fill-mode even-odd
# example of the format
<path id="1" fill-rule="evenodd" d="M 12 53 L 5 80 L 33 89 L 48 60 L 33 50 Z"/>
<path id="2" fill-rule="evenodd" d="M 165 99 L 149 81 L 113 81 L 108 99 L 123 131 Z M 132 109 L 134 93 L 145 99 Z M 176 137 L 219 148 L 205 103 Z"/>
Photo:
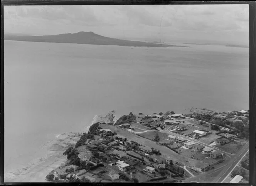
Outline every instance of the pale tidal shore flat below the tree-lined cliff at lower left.
<path id="1" fill-rule="evenodd" d="M 47 182 L 45 176 L 66 161 L 62 153 L 68 146 L 74 146 L 81 133 L 62 133 L 45 143 L 30 164 L 22 169 L 5 173 L 4 182 Z"/>

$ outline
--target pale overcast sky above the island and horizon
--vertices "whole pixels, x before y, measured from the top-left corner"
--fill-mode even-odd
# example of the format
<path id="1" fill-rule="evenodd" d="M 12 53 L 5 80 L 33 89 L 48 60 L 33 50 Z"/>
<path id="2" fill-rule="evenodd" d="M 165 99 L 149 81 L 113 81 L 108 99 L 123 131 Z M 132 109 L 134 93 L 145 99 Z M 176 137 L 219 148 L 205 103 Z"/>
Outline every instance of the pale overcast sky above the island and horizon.
<path id="1" fill-rule="evenodd" d="M 249 43 L 248 5 L 5 6 L 5 33 Z"/>

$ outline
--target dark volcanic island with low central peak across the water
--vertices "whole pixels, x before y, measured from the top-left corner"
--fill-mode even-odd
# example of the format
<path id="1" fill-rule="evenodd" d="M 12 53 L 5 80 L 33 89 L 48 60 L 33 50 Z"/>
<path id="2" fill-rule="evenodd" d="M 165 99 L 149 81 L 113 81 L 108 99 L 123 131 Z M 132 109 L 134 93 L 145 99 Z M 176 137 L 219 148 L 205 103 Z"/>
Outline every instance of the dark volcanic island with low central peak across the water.
<path id="1" fill-rule="evenodd" d="M 148 47 L 169 47 L 177 45 L 166 45 L 158 43 L 147 43 L 140 41 L 129 41 L 104 37 L 94 32 L 63 33 L 58 35 L 44 36 L 13 36 L 7 35 L 5 40 L 27 41 L 27 42 L 50 42 L 50 43 L 77 43 L 88 45 L 118 45 L 118 46 L 148 46 Z M 182 46 L 186 47 L 186 46 Z"/>

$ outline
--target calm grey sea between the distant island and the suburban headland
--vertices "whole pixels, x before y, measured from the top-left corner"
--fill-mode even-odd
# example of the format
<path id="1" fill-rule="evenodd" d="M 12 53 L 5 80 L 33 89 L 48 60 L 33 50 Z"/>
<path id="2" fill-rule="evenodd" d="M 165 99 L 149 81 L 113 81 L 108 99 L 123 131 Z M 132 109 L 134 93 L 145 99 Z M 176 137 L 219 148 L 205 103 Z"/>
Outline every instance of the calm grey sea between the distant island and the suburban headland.
<path id="1" fill-rule="evenodd" d="M 4 42 L 5 173 L 95 115 L 249 109 L 249 48 Z"/>

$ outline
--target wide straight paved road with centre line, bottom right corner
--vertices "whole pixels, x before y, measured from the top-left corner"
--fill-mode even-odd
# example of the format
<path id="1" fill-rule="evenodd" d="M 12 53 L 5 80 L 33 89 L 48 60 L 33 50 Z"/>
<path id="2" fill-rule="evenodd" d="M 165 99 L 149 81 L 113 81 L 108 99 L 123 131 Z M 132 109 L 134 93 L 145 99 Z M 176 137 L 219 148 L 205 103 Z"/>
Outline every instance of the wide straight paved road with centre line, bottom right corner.
<path id="1" fill-rule="evenodd" d="M 232 157 L 231 161 L 229 161 L 229 164 L 225 166 L 225 168 L 218 174 L 212 183 L 223 183 L 248 151 L 249 143 L 246 143 L 246 145 L 244 145 L 244 147 L 236 154 L 236 156 Z"/>

